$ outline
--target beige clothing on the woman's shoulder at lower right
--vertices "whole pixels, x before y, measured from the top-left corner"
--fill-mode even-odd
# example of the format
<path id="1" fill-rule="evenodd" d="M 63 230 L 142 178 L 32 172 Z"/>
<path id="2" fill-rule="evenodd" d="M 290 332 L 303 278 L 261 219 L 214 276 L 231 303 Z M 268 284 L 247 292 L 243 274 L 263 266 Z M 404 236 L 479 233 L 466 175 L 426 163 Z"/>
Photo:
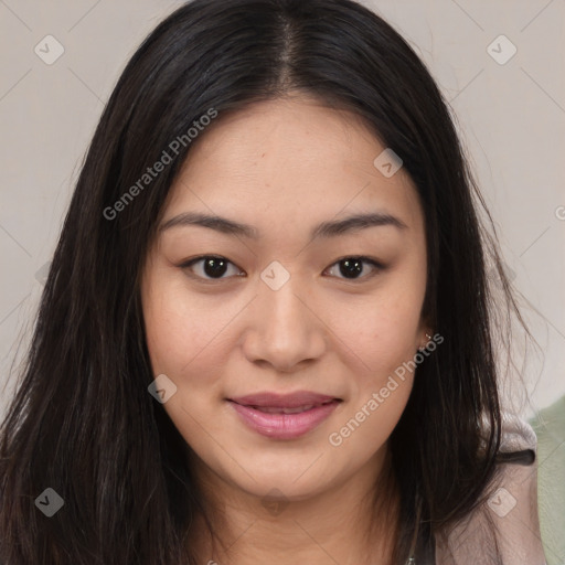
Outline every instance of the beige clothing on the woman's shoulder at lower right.
<path id="1" fill-rule="evenodd" d="M 501 451 L 522 450 L 533 451 L 533 463 L 500 465 L 499 488 L 487 504 L 457 525 L 447 545 L 436 541 L 436 565 L 546 565 L 537 516 L 537 439 L 526 420 L 503 414 Z"/>

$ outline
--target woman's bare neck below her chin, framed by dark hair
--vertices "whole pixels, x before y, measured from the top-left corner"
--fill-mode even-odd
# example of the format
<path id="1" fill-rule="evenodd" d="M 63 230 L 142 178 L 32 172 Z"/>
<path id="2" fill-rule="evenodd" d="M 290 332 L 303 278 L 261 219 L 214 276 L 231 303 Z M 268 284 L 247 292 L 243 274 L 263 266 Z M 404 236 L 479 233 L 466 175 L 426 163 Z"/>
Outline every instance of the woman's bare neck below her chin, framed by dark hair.
<path id="1" fill-rule="evenodd" d="M 198 473 L 213 535 L 202 519 L 190 536 L 192 552 L 199 562 L 222 565 L 392 565 L 399 493 L 386 447 L 328 491 L 274 499 L 267 508 L 265 499 Z"/>

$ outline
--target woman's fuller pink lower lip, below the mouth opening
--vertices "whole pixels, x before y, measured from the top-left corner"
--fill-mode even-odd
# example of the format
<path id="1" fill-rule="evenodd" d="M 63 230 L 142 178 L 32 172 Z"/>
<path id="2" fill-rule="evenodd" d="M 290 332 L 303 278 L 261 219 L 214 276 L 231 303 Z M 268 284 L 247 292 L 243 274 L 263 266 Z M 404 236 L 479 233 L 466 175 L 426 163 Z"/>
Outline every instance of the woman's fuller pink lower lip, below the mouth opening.
<path id="1" fill-rule="evenodd" d="M 267 414 L 233 401 L 230 404 L 243 422 L 260 435 L 273 439 L 295 439 L 320 425 L 338 407 L 339 402 L 333 401 L 297 414 Z"/>

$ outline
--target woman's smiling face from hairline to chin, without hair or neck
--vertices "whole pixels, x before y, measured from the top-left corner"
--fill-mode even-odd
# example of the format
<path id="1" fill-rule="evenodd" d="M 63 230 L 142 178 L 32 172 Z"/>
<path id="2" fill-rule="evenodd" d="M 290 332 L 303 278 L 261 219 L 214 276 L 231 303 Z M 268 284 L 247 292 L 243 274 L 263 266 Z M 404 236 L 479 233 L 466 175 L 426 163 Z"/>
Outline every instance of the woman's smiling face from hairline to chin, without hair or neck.
<path id="1" fill-rule="evenodd" d="M 171 189 L 147 341 L 177 387 L 163 407 L 218 484 L 300 500 L 379 470 L 429 330 L 423 212 L 384 150 L 353 114 L 259 103 L 220 115 Z M 359 214 L 397 224 L 332 227 Z"/>

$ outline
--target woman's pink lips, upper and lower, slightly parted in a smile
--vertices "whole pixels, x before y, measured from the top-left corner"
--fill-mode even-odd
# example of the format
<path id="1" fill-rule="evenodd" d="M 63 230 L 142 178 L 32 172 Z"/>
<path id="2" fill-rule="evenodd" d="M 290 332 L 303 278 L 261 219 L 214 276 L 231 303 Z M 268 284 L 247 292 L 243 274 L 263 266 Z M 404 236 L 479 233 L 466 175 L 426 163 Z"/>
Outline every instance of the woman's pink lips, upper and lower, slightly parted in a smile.
<path id="1" fill-rule="evenodd" d="M 294 439 L 321 424 L 337 408 L 341 399 L 311 392 L 288 395 L 259 393 L 228 398 L 243 422 L 255 431 L 273 439 Z M 269 414 L 259 408 L 311 408 L 295 414 Z"/>

